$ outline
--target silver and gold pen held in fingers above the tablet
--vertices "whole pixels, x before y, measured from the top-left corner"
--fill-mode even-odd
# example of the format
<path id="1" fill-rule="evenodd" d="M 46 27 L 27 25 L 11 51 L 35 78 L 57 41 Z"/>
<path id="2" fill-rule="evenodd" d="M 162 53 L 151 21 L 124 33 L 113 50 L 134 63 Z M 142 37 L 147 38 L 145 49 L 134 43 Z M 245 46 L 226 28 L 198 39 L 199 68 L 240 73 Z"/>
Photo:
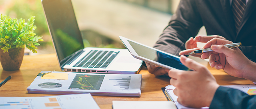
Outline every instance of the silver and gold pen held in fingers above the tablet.
<path id="1" fill-rule="evenodd" d="M 224 46 L 226 46 L 228 48 L 235 48 L 235 47 L 241 46 L 241 43 L 226 44 Z M 188 55 L 196 54 L 196 53 L 211 52 L 211 51 L 213 51 L 211 48 L 204 48 L 204 49 L 200 49 L 200 50 L 196 50 L 196 51 L 193 51 L 191 53 L 188 53 Z"/>

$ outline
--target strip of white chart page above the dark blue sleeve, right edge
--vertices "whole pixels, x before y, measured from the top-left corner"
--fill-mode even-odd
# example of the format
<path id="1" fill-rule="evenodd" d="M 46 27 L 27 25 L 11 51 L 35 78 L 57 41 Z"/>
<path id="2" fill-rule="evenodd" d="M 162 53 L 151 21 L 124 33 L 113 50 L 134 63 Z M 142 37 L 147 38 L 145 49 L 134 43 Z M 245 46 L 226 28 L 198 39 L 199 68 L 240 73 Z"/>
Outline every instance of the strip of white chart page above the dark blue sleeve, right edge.
<path id="1" fill-rule="evenodd" d="M 241 90 L 242 92 L 254 95 L 256 94 L 256 85 L 222 85 L 224 87 Z"/>

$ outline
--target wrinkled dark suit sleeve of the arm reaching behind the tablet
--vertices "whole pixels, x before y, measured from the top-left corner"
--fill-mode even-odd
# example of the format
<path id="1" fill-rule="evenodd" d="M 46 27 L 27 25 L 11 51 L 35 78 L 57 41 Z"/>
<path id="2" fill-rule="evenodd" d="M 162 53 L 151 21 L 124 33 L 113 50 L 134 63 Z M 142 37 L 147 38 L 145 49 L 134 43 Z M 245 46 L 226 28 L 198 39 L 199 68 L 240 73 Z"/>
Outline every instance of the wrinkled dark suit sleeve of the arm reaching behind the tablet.
<path id="1" fill-rule="evenodd" d="M 194 0 L 181 0 L 154 48 L 179 56 L 179 52 L 185 50 L 186 41 L 195 37 L 202 26 Z"/>

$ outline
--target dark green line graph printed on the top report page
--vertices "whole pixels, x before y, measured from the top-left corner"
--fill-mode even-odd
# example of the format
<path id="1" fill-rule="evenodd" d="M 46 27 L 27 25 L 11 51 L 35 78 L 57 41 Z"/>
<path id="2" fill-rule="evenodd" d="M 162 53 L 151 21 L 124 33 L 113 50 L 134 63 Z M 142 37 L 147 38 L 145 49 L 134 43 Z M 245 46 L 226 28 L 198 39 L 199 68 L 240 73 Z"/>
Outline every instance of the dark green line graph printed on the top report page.
<path id="1" fill-rule="evenodd" d="M 104 75 L 76 74 L 68 89 L 99 90 Z"/>

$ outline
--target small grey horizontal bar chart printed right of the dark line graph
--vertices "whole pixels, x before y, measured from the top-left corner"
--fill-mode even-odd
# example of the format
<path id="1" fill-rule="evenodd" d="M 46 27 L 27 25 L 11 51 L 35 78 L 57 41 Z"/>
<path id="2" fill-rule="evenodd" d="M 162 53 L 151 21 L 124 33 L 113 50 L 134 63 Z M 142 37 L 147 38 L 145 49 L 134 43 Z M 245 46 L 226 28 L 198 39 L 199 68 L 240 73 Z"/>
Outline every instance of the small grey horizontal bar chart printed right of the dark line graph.
<path id="1" fill-rule="evenodd" d="M 109 80 L 116 80 L 118 84 L 114 86 L 120 87 L 120 90 L 129 90 L 130 82 L 131 82 L 131 76 L 128 76 L 127 78 L 120 78 L 120 79 L 109 79 Z"/>

